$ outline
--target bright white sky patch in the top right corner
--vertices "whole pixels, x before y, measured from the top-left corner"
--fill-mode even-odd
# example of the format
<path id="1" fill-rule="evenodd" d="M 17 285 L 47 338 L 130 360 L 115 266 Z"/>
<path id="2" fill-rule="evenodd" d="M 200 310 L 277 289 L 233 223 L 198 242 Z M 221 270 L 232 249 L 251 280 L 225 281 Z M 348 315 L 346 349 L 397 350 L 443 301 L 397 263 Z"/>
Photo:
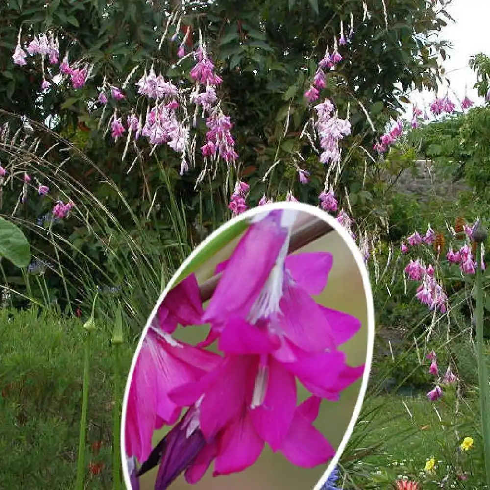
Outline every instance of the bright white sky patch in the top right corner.
<path id="1" fill-rule="evenodd" d="M 453 0 L 446 10 L 456 21 L 448 20 L 447 26 L 443 27 L 439 34 L 440 39 L 452 43 L 452 48 L 446 50 L 448 57 L 443 63 L 446 69 L 445 76 L 450 81 L 449 98 L 454 102 L 456 97 L 462 100 L 467 88 L 468 97 L 478 105 L 483 104 L 483 98 L 478 98 L 478 92 L 473 89 L 476 73 L 469 68 L 468 62 L 471 55 L 480 52 L 490 56 L 490 0 Z M 439 89 L 438 96 L 444 97 L 446 92 L 447 85 Z M 409 98 L 421 108 L 427 106 L 434 96 L 434 92 L 426 91 L 420 94 L 415 91 Z M 456 108 L 461 110 L 459 104 L 456 104 Z"/>

